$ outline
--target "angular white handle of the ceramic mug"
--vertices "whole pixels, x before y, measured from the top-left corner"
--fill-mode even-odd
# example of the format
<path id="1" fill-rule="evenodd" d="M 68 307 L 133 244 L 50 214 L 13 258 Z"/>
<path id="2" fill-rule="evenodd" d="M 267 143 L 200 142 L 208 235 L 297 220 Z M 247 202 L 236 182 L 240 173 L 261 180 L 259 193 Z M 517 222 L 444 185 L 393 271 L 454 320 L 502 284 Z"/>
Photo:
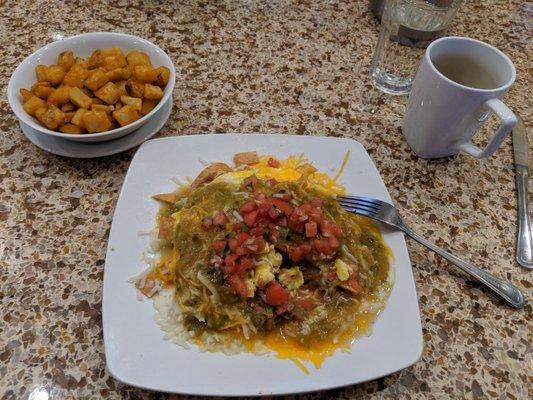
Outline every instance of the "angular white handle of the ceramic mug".
<path id="1" fill-rule="evenodd" d="M 476 158 L 485 158 L 492 155 L 516 125 L 516 116 L 500 99 L 487 100 L 484 106 L 491 109 L 500 119 L 500 127 L 496 131 L 496 134 L 490 139 L 483 150 L 470 141 L 459 142 L 454 146 L 457 150 L 464 151 Z"/>

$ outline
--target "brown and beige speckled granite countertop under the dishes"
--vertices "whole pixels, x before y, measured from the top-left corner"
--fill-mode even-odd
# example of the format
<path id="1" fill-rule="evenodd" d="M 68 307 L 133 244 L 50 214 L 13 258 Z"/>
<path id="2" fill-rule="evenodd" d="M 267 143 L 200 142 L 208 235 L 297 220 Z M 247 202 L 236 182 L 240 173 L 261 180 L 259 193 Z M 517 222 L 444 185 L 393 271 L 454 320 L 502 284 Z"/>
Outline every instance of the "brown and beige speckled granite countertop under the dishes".
<path id="1" fill-rule="evenodd" d="M 517 80 L 505 101 L 530 124 L 531 3 L 465 3 L 451 33 L 511 57 Z M 415 230 L 511 279 L 531 298 L 531 272 L 514 260 L 511 140 L 486 160 L 428 162 L 411 153 L 399 128 L 405 98 L 384 95 L 369 81 L 379 27 L 366 1 L 25 0 L 2 2 L 0 18 L 0 398 L 175 398 L 123 385 L 105 370 L 104 255 L 136 150 L 89 160 L 51 155 L 23 136 L 7 103 L 9 76 L 24 57 L 81 32 L 132 33 L 170 54 L 174 109 L 158 136 L 357 139 Z M 531 398 L 531 305 L 512 310 L 442 259 L 408 245 L 422 359 L 372 382 L 304 397 Z"/>

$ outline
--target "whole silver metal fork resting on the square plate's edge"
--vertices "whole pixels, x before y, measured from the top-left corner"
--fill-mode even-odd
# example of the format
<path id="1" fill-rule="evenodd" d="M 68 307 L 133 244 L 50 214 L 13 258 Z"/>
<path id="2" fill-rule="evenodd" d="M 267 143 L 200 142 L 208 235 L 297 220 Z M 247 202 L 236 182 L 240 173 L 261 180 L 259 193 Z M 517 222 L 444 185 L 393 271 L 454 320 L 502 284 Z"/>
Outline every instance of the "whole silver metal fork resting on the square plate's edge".
<path id="1" fill-rule="evenodd" d="M 413 232 L 400 218 L 396 209 L 381 200 L 372 199 L 369 197 L 359 196 L 339 196 L 337 197 L 339 204 L 348 212 L 360 214 L 377 221 L 383 222 L 388 226 L 400 229 L 405 234 L 416 240 L 418 243 L 426 246 L 428 249 L 434 251 L 452 264 L 459 267 L 468 275 L 476 279 L 478 282 L 485 285 L 495 294 L 500 296 L 503 300 L 515 308 L 522 308 L 525 304 L 524 295 L 515 285 L 503 279 L 496 278 L 488 272 L 461 260 L 459 257 L 441 249 L 440 247 L 428 242 L 422 236 Z"/>

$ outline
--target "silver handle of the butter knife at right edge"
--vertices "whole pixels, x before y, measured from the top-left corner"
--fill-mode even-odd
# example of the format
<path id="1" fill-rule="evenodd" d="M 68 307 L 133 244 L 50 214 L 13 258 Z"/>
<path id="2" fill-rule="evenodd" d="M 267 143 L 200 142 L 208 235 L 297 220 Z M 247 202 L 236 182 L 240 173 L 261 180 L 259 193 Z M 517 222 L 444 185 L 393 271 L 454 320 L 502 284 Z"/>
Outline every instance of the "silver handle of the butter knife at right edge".
<path id="1" fill-rule="evenodd" d="M 518 191 L 518 239 L 516 261 L 523 267 L 533 268 L 533 232 L 529 216 L 529 193 L 527 167 L 515 165 L 516 188 Z"/>

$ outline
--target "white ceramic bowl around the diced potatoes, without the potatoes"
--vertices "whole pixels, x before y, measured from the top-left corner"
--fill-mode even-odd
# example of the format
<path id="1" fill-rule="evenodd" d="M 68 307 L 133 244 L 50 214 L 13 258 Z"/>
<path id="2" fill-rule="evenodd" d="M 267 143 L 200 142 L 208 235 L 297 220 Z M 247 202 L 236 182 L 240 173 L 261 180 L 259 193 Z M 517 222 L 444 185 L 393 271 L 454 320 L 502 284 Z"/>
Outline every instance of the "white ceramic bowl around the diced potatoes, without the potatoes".
<path id="1" fill-rule="evenodd" d="M 113 129 L 107 132 L 89 133 L 83 135 L 72 135 L 61 132 L 55 132 L 42 126 L 39 121 L 31 117 L 24 111 L 22 98 L 19 94 L 21 88 L 29 89 L 37 81 L 35 77 L 35 66 L 37 64 L 55 64 L 59 53 L 72 50 L 75 57 L 89 57 L 96 49 L 106 47 L 118 46 L 125 53 L 130 50 L 144 51 L 150 57 L 154 67 L 165 66 L 170 70 L 170 78 L 167 86 L 163 92 L 163 98 L 159 101 L 157 106 L 147 115 L 121 128 Z M 52 135 L 64 139 L 75 140 L 80 142 L 103 142 L 106 140 L 117 139 L 128 133 L 133 132 L 137 128 L 144 125 L 150 118 L 159 111 L 163 104 L 165 104 L 174 89 L 176 80 L 176 71 L 170 57 L 155 44 L 148 40 L 137 36 L 125 35 L 114 32 L 92 32 L 84 33 L 77 36 L 72 36 L 57 42 L 52 42 L 44 47 L 41 47 L 32 55 L 28 56 L 15 69 L 9 86 L 7 88 L 7 97 L 11 109 L 15 115 L 26 125 L 45 135 Z"/>

